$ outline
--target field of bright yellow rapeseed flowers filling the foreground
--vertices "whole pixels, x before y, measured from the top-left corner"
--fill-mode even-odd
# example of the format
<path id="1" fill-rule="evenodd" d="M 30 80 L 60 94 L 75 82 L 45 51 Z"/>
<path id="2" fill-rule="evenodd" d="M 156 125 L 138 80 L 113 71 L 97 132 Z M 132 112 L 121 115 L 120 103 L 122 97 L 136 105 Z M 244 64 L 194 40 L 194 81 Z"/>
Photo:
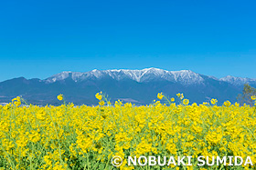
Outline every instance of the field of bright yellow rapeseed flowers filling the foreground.
<path id="1" fill-rule="evenodd" d="M 251 156 L 256 164 L 255 106 L 179 104 L 161 101 L 111 105 L 98 93 L 97 106 L 0 105 L 0 169 L 254 169 L 251 165 L 128 166 L 127 156 Z M 252 96 L 255 99 L 255 96 Z M 63 100 L 63 95 L 58 99 Z M 162 101 L 165 100 L 165 103 Z M 112 156 L 123 165 L 112 165 Z"/>

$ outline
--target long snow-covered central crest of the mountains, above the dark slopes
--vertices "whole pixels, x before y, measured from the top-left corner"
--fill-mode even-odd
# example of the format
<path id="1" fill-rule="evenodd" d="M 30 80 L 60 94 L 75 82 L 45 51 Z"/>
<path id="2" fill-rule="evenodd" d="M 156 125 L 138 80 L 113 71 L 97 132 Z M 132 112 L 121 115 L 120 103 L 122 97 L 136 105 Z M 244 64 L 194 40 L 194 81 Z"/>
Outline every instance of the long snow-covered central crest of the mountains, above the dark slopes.
<path id="1" fill-rule="evenodd" d="M 204 78 L 201 75 L 190 70 L 166 71 L 158 68 L 145 68 L 143 70 L 92 70 L 84 73 L 62 72 L 47 78 L 45 81 L 47 83 L 54 83 L 56 81 L 71 78 L 75 82 L 81 82 L 90 78 L 101 79 L 106 77 L 111 77 L 117 81 L 131 79 L 139 83 L 159 80 L 180 83 L 182 85 L 197 85 L 204 83 Z"/>

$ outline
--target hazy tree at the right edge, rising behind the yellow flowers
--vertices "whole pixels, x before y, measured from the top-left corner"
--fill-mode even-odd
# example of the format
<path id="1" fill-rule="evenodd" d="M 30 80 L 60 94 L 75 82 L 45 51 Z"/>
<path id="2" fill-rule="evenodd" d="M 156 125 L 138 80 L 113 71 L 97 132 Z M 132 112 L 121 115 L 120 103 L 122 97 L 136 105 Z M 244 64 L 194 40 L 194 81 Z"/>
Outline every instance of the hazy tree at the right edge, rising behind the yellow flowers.
<path id="1" fill-rule="evenodd" d="M 256 95 L 256 88 L 253 88 L 251 85 L 245 84 L 243 86 L 242 94 L 238 95 L 237 99 L 240 104 L 253 105 L 251 100 L 251 95 Z"/>

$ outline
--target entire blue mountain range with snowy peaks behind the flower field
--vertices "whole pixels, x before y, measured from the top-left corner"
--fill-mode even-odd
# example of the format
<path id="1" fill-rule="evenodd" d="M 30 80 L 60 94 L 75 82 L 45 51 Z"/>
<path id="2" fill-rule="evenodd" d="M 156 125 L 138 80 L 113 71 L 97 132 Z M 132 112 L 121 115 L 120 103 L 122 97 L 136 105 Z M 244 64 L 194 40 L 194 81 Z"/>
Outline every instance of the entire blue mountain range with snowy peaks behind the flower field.
<path id="1" fill-rule="evenodd" d="M 136 105 L 147 105 L 159 92 L 170 97 L 183 93 L 191 102 L 219 103 L 236 101 L 243 85 L 256 87 L 256 79 L 201 75 L 190 70 L 166 71 L 158 68 L 143 70 L 92 70 L 90 72 L 62 72 L 47 79 L 14 78 L 0 82 L 0 103 L 8 103 L 21 95 L 34 105 L 59 105 L 56 96 L 63 94 L 66 102 L 76 105 L 97 105 L 95 94 L 105 92 L 112 101 L 123 100 Z"/>

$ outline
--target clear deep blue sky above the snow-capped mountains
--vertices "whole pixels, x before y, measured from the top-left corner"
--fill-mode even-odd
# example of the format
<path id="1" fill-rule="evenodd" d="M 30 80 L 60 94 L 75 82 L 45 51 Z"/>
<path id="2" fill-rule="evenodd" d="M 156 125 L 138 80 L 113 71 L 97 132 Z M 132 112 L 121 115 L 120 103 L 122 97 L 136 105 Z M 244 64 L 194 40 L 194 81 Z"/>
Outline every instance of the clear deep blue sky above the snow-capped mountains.
<path id="1" fill-rule="evenodd" d="M 92 69 L 256 78 L 256 1 L 1 1 L 0 81 Z"/>

